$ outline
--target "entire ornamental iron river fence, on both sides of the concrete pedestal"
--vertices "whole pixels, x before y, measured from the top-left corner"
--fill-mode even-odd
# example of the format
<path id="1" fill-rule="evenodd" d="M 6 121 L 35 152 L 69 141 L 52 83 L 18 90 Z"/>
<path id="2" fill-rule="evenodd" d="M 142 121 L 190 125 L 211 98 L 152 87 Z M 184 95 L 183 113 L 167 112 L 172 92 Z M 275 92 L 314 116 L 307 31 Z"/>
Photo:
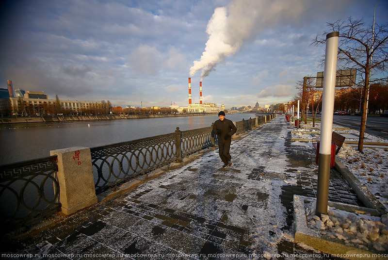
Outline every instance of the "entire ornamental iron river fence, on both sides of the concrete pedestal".
<path id="1" fill-rule="evenodd" d="M 236 135 L 256 128 L 275 115 L 235 122 Z M 202 149 L 214 146 L 212 127 L 90 148 L 95 193 L 149 173 L 171 162 L 181 162 Z M 0 218 L 7 227 L 35 224 L 61 210 L 57 157 L 0 166 Z M 79 183 L 80 186 L 82 183 Z M 54 188 L 53 188 L 54 187 Z M 9 231 L 9 230 L 5 230 Z"/>

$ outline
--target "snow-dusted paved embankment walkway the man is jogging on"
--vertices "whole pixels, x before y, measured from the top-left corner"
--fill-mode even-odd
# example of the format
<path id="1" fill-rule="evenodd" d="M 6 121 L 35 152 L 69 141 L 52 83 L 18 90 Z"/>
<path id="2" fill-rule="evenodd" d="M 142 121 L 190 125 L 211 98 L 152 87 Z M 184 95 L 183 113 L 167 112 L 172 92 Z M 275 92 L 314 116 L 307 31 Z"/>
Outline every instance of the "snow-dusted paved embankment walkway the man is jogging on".
<path id="1" fill-rule="evenodd" d="M 314 254 L 293 243 L 292 198 L 315 197 L 318 167 L 312 147 L 291 144 L 293 129 L 278 116 L 232 142 L 231 167 L 221 168 L 218 148 L 209 149 L 2 253 L 32 254 L 11 259 L 306 259 L 290 255 Z M 335 169 L 329 200 L 363 206 Z"/>

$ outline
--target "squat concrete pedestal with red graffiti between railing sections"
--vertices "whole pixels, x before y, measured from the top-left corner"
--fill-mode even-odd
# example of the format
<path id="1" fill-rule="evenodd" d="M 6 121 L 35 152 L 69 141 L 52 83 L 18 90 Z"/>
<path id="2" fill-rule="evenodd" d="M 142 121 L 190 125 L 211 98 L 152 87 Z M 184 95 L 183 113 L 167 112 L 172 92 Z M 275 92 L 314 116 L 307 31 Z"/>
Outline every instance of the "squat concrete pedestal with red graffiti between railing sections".
<path id="1" fill-rule="evenodd" d="M 59 201 L 66 215 L 97 203 L 90 148 L 70 147 L 50 151 L 58 156 Z"/>

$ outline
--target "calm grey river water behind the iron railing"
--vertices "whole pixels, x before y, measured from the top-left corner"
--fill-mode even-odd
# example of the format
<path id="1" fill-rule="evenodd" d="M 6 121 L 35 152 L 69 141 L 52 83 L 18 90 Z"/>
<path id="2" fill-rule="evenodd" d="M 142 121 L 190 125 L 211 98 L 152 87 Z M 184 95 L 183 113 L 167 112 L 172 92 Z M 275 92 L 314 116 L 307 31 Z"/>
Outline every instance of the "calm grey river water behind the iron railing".
<path id="1" fill-rule="evenodd" d="M 255 114 L 227 114 L 234 122 Z M 0 125 L 0 165 L 42 158 L 50 150 L 95 147 L 211 126 L 217 115 Z"/>

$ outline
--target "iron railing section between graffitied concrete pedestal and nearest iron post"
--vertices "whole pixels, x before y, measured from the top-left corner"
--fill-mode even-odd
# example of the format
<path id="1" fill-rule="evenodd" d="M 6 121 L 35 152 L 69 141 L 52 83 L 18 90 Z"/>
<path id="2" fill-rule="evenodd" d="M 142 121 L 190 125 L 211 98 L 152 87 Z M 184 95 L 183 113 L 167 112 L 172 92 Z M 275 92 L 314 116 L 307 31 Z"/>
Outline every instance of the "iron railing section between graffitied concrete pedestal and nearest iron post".
<path id="1" fill-rule="evenodd" d="M 177 160 L 176 134 L 90 148 L 96 193 Z"/>

